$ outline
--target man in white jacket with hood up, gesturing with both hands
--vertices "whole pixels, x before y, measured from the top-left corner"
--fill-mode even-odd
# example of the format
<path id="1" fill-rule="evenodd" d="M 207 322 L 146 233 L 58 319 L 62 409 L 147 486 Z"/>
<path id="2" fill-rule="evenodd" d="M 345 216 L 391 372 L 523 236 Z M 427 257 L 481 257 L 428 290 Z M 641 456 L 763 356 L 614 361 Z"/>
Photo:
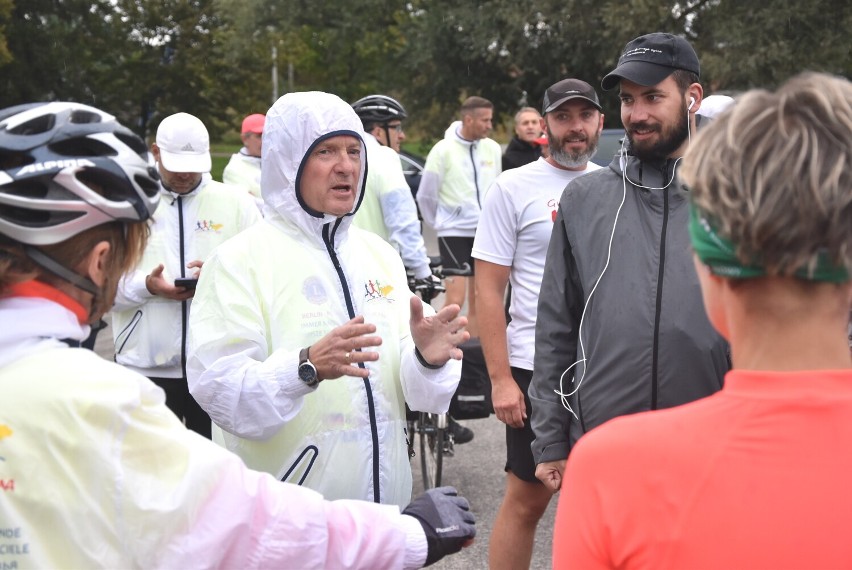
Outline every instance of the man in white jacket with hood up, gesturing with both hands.
<path id="1" fill-rule="evenodd" d="M 326 498 L 402 506 L 405 403 L 447 411 L 469 335 L 457 305 L 432 315 L 396 251 L 352 227 L 363 140 L 337 96 L 290 93 L 272 106 L 265 219 L 205 264 L 187 370 L 214 440 L 250 467 Z"/>

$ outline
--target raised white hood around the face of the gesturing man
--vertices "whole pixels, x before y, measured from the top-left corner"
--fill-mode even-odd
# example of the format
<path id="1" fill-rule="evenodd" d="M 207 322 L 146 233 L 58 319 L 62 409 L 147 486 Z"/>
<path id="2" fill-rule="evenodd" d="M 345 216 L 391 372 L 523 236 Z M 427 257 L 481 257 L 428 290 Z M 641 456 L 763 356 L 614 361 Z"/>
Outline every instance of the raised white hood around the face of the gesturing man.
<path id="1" fill-rule="evenodd" d="M 320 235 L 322 226 L 336 216 L 314 212 L 301 195 L 300 181 L 307 157 L 327 138 L 339 135 L 356 137 L 361 142 L 361 172 L 355 204 L 341 220 L 339 229 L 352 223 L 364 194 L 367 175 L 367 149 L 361 119 L 346 101 L 320 91 L 288 93 L 278 99 L 266 114 L 263 128 L 263 157 L 260 189 L 264 212 L 277 214 L 311 235 Z"/>

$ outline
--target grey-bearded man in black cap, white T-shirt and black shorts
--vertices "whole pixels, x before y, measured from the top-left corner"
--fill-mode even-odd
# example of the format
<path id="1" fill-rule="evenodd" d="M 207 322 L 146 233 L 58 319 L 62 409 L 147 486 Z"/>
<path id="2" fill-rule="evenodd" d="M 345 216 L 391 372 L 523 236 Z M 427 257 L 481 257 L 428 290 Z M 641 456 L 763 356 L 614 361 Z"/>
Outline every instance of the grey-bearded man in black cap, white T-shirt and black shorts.
<path id="1" fill-rule="evenodd" d="M 591 85 L 559 81 L 545 92 L 541 112 L 537 127 L 547 133 L 550 156 L 497 177 L 483 199 L 473 242 L 482 350 L 494 412 L 506 424 L 506 492 L 491 532 L 491 570 L 529 567 L 536 527 L 552 496 L 536 478 L 530 452 L 527 389 L 536 305 L 559 197 L 569 182 L 600 168 L 589 161 L 604 121 Z M 507 328 L 503 296 L 508 283 Z"/>

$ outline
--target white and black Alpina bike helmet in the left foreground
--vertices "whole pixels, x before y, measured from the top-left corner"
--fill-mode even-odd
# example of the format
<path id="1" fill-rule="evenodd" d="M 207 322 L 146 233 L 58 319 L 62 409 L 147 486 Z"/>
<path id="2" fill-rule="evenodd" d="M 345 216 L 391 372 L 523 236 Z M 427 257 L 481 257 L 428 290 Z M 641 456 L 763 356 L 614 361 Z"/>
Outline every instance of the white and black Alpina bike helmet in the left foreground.
<path id="1" fill-rule="evenodd" d="M 14 241 L 51 245 L 146 220 L 159 189 L 145 142 L 108 113 L 63 102 L 0 111 L 0 234 Z"/>

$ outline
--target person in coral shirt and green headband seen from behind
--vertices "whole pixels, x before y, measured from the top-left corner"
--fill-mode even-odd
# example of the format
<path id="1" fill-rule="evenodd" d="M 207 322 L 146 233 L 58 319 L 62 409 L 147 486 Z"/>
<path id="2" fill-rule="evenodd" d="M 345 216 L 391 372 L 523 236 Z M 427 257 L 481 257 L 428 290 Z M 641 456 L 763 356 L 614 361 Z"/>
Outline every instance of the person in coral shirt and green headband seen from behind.
<path id="1" fill-rule="evenodd" d="M 554 568 L 852 567 L 850 170 L 852 84 L 824 74 L 743 95 L 690 145 L 695 265 L 733 369 L 578 441 Z"/>

